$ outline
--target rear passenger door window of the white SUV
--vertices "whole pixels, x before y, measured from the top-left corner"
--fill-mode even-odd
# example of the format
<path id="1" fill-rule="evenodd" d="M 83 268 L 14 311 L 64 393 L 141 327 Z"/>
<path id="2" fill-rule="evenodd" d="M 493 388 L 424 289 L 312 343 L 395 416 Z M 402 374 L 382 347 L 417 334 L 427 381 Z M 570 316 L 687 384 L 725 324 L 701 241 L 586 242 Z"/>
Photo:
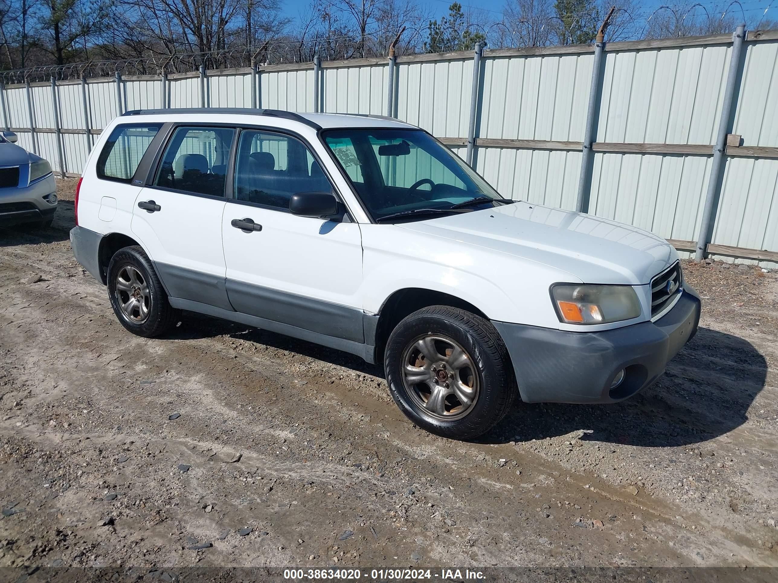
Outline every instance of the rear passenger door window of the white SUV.
<path id="1" fill-rule="evenodd" d="M 167 145 L 156 186 L 223 197 L 232 127 L 178 127 Z"/>

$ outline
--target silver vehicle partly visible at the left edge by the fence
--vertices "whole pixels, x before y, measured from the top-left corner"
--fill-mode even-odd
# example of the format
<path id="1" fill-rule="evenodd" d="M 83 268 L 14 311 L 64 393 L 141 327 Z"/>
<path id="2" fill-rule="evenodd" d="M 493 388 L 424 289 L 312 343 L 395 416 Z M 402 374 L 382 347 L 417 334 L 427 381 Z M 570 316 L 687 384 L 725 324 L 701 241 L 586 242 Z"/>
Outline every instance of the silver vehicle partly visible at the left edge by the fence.
<path id="1" fill-rule="evenodd" d="M 19 147 L 16 134 L 0 132 L 0 225 L 51 225 L 57 210 L 57 183 L 51 164 Z"/>

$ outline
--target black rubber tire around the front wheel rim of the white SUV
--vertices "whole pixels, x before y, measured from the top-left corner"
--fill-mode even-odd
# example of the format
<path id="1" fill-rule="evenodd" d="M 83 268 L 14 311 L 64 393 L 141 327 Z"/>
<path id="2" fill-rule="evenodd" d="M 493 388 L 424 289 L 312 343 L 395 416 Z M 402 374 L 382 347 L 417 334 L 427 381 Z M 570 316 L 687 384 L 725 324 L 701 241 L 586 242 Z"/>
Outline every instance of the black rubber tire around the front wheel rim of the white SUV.
<path id="1" fill-rule="evenodd" d="M 454 340 L 474 365 L 466 369 L 468 375 L 475 373 L 478 376 L 471 382 L 477 393 L 470 405 L 458 407 L 465 409 L 461 413 L 464 417 L 447 420 L 445 416 L 431 414 L 422 403 L 424 397 L 419 398 L 418 387 L 427 382 L 415 386 L 405 382 L 405 359 L 408 354 L 411 354 L 411 360 L 420 358 L 414 357 L 412 350 L 418 346 L 416 342 L 425 337 Z M 445 341 L 443 346 L 446 346 Z M 419 361 L 415 366 L 419 366 Z M 432 305 L 413 312 L 392 330 L 384 351 L 384 370 L 391 396 L 400 410 L 420 428 L 446 438 L 472 439 L 483 435 L 505 417 L 518 393 L 508 351 L 492 323 L 464 309 L 447 305 Z M 478 384 L 475 385 L 475 382 Z M 454 383 L 451 384 L 453 386 Z M 436 386 L 433 386 L 434 389 Z M 431 393 L 429 400 L 432 400 Z"/>

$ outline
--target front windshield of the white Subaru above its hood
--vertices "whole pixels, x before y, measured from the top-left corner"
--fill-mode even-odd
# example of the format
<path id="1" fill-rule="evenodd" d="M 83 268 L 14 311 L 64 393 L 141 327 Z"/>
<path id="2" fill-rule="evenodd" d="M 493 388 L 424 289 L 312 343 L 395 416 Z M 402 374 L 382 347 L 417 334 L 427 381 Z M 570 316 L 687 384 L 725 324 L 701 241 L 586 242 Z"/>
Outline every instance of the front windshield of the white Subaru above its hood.
<path id="1" fill-rule="evenodd" d="M 426 131 L 349 128 L 323 132 L 374 221 L 414 211 L 462 212 L 474 199 L 503 200 L 478 174 Z M 481 204 L 492 206 L 489 200 Z M 477 210 L 478 204 L 467 210 Z"/>

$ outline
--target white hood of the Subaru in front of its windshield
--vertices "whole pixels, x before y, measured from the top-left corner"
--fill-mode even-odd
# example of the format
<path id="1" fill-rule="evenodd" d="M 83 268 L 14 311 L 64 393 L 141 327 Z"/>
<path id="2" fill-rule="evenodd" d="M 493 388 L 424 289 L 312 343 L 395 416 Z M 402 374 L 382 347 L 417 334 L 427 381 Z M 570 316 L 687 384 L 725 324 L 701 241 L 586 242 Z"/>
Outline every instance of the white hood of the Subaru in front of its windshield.
<path id="1" fill-rule="evenodd" d="M 587 284 L 645 285 L 678 260 L 653 233 L 522 201 L 397 226 L 555 267 Z"/>

